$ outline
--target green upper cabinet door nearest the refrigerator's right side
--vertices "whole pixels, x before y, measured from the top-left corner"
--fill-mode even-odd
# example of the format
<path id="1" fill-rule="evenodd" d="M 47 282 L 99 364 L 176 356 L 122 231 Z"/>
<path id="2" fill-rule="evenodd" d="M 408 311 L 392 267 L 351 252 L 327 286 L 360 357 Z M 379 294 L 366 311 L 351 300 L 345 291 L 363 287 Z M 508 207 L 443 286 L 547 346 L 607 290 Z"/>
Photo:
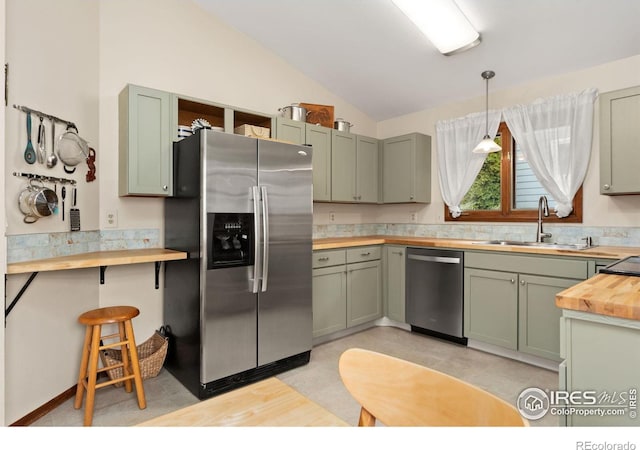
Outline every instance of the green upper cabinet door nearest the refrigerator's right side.
<path id="1" fill-rule="evenodd" d="M 313 200 L 331 201 L 331 128 L 305 124 L 305 142 L 313 148 Z"/>

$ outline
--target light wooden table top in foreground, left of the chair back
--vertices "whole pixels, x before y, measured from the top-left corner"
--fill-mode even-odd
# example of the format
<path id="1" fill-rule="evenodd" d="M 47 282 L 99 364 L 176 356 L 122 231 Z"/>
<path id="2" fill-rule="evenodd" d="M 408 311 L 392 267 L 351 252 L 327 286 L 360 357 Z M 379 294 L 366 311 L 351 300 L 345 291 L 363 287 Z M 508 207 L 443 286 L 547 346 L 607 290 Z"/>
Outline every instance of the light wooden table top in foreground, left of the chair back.
<path id="1" fill-rule="evenodd" d="M 137 426 L 333 427 L 349 424 L 277 378 L 268 378 Z"/>

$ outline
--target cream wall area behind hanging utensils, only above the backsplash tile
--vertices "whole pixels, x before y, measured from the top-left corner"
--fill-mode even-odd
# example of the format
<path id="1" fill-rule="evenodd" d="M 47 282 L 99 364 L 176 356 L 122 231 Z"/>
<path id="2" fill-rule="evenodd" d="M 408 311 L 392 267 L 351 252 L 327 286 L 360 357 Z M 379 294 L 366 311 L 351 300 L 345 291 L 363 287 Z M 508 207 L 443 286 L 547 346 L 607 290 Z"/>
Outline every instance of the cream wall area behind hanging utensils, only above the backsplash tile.
<path id="1" fill-rule="evenodd" d="M 9 0 L 7 2 L 7 61 L 10 64 L 9 107 L 6 108 L 7 165 L 6 198 L 7 234 L 51 233 L 69 231 L 68 216 L 63 222 L 61 214 L 45 217 L 34 224 L 23 223 L 17 207 L 20 192 L 27 185 L 25 178 L 14 177 L 13 172 L 67 178 L 77 181 L 78 208 L 83 230 L 98 229 L 97 182 L 87 183 L 88 171 L 83 162 L 74 174 L 67 174 L 62 163 L 49 169 L 45 165 L 27 164 L 23 154 L 27 144 L 26 114 L 12 108 L 22 105 L 74 122 L 79 134 L 89 141 L 97 153 L 97 177 L 101 176 L 102 149 L 98 145 L 98 46 L 97 1 Z M 86 16 L 86 19 L 85 19 Z M 37 147 L 38 117 L 32 115 L 31 140 Z M 47 151 L 51 145 L 51 123 L 44 120 Z M 65 130 L 56 124 L 56 134 Z M 48 187 L 54 187 L 48 184 Z M 67 187 L 68 189 L 68 187 Z M 58 186 L 58 197 L 61 186 Z M 70 196 L 67 195 L 66 208 Z"/>

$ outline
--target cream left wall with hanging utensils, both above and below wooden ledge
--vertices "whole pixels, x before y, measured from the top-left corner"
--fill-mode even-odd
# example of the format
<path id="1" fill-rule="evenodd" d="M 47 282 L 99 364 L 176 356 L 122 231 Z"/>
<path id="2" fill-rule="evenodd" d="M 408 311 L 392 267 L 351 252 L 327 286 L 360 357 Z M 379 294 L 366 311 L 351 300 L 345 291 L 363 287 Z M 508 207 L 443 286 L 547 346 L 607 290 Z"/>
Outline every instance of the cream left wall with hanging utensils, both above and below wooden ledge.
<path id="1" fill-rule="evenodd" d="M 3 132 L 6 151 L 6 193 L 2 199 L 7 235 L 69 231 L 69 220 L 61 216 L 25 224 L 17 207 L 24 178 L 12 172 L 29 172 L 74 179 L 78 182 L 78 206 L 83 230 L 98 229 L 97 182 L 87 183 L 87 166 L 66 174 L 62 165 L 52 169 L 29 165 L 23 152 L 27 142 L 25 114 L 12 108 L 24 105 L 78 126 L 81 136 L 97 151 L 97 177 L 101 176 L 103 149 L 98 144 L 98 2 L 95 0 L 8 0 L 6 1 L 6 61 L 9 72 L 9 107 Z M 3 34 L 3 38 L 5 38 Z M 2 46 L 4 49 L 4 45 Z M 4 58 L 3 58 L 4 61 Z M 32 141 L 38 126 L 32 117 Z M 47 143 L 51 142 L 50 124 Z M 64 131 L 57 124 L 56 132 Z M 104 149 L 104 153 L 113 153 Z M 53 187 L 50 185 L 50 187 Z M 60 186 L 58 186 L 60 194 Z M 67 197 L 67 201 L 69 197 Z M 69 205 L 67 203 L 67 211 Z M 2 246 L 6 245 L 3 239 Z M 2 264 L 3 268 L 5 264 Z M 7 304 L 24 285 L 29 274 L 9 275 Z M 77 380 L 84 329 L 78 315 L 99 304 L 98 269 L 42 272 L 34 279 L 6 320 L 5 333 L 5 417 L 11 424 L 72 387 Z M 3 347 L 5 348 L 5 347 Z M 46 381 L 43 381 L 46 380 Z"/>

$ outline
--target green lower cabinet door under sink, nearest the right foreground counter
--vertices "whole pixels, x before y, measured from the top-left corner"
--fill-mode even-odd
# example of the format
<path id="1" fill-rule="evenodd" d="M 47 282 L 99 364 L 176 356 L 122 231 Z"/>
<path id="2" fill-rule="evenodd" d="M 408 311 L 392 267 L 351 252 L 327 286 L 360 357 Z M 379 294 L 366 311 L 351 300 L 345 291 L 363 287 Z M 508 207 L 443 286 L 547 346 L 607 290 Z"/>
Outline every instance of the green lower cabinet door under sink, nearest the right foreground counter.
<path id="1" fill-rule="evenodd" d="M 581 280 L 519 276 L 518 350 L 560 361 L 560 317 L 556 294 Z"/>

